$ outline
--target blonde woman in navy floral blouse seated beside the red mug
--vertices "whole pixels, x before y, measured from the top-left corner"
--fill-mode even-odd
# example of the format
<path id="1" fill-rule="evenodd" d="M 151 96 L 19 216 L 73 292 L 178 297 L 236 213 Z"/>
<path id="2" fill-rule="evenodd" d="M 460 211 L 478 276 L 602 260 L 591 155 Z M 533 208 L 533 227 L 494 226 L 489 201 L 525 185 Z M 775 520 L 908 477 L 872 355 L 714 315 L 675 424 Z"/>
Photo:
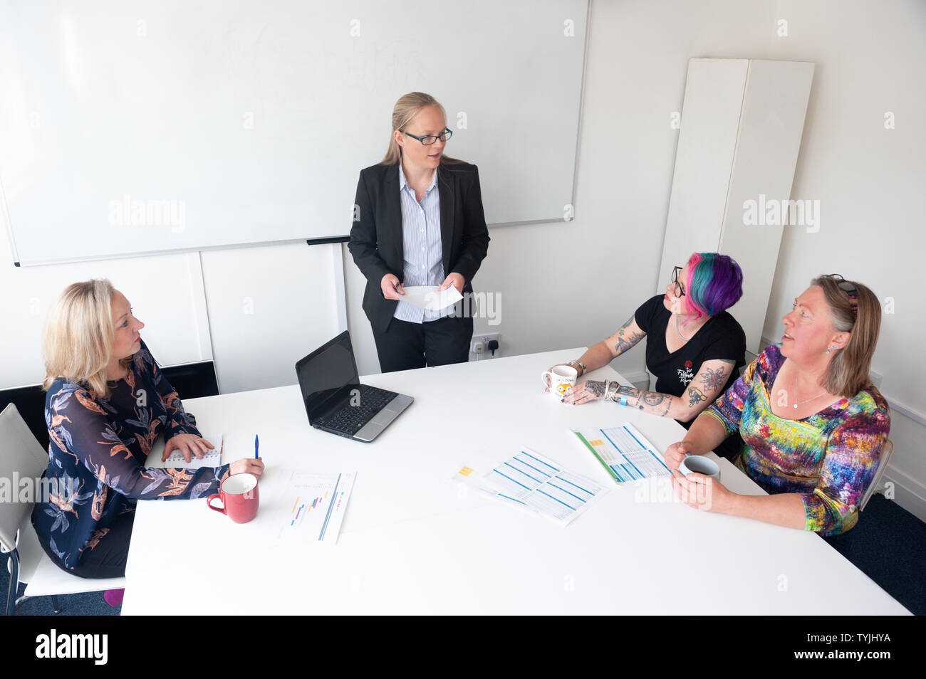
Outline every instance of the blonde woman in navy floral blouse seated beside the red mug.
<path id="1" fill-rule="evenodd" d="M 180 451 L 190 462 L 213 446 L 144 346 L 143 327 L 108 280 L 89 280 L 61 293 L 45 328 L 44 476 L 74 492 L 37 502 L 32 525 L 52 562 L 81 577 L 125 573 L 137 500 L 206 498 L 228 475 L 264 470 L 251 458 L 199 469 L 144 466 L 162 432 L 162 460 Z"/>

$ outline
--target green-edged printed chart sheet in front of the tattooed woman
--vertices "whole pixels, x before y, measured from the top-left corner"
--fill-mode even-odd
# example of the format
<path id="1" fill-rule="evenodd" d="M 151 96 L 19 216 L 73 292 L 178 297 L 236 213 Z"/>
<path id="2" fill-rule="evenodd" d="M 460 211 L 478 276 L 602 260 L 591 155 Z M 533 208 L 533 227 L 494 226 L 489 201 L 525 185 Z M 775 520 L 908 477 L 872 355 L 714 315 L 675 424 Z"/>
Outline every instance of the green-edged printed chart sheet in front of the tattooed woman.
<path id="1" fill-rule="evenodd" d="M 629 423 L 587 432 L 573 429 L 572 433 L 618 483 L 672 475 L 662 453 Z"/>

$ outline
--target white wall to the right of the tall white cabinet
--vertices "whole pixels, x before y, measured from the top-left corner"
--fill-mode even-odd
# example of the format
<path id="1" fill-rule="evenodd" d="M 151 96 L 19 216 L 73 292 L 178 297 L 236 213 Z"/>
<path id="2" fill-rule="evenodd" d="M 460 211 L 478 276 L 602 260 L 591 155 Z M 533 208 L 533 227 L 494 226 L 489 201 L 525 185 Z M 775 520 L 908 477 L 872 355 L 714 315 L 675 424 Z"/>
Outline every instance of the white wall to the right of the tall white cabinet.
<path id="1" fill-rule="evenodd" d="M 818 63 L 792 198 L 820 201 L 820 230 L 784 229 L 763 334 L 781 337 L 782 315 L 820 274 L 855 278 L 885 310 L 893 304 L 872 362 L 892 406 L 895 454 L 886 476 L 898 502 L 926 520 L 926 3 L 777 6 L 791 27 L 775 43 L 777 58 Z M 884 127 L 887 112 L 894 130 Z"/>

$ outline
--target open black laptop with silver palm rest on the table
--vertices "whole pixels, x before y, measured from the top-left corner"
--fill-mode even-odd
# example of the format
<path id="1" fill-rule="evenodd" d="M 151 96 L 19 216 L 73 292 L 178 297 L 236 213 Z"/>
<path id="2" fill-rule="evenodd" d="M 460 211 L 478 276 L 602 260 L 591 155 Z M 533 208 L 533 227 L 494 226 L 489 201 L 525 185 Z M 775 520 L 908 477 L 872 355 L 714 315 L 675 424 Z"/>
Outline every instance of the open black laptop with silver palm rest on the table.
<path id="1" fill-rule="evenodd" d="M 360 384 L 347 331 L 296 363 L 295 374 L 308 424 L 365 443 L 379 436 L 415 401 L 405 394 Z"/>

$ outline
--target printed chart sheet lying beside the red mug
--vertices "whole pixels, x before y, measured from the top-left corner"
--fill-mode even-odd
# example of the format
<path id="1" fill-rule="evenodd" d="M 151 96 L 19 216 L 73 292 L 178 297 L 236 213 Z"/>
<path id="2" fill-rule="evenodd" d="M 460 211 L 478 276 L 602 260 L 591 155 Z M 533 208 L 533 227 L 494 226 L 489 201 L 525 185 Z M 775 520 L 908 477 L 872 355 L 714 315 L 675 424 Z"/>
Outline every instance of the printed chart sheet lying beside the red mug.
<path id="1" fill-rule="evenodd" d="M 281 540 L 336 543 L 356 476 L 357 472 L 293 472 L 283 494 L 277 537 Z"/>

